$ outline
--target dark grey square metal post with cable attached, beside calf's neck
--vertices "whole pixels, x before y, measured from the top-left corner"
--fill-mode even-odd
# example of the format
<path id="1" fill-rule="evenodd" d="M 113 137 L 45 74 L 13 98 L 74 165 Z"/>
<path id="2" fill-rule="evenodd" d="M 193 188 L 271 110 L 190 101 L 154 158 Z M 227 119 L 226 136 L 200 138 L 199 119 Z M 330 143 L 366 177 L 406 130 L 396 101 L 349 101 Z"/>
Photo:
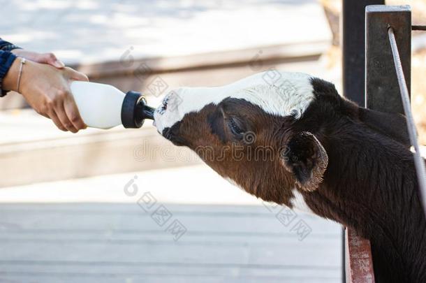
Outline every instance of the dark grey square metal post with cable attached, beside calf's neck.
<path id="1" fill-rule="evenodd" d="M 410 89 L 410 6 L 367 6 L 365 10 L 365 106 L 382 112 L 404 114 L 388 38 L 389 26 L 395 30 L 402 69 L 407 87 Z"/>

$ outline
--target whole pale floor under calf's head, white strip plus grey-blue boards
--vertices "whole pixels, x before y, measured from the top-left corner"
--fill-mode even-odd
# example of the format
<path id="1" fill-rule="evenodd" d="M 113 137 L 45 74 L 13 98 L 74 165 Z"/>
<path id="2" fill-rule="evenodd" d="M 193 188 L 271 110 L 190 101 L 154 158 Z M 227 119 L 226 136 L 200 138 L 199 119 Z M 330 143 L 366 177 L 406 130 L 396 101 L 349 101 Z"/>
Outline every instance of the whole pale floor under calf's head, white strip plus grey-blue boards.
<path id="1" fill-rule="evenodd" d="M 338 224 L 263 204 L 204 165 L 0 200 L 0 282 L 341 282 Z"/>

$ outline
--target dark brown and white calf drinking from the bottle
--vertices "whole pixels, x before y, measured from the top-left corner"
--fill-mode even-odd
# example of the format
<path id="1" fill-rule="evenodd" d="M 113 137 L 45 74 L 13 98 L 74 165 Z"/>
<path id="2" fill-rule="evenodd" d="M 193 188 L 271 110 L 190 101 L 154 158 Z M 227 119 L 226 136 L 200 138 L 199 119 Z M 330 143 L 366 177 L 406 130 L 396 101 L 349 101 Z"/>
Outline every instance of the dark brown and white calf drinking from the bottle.
<path id="1" fill-rule="evenodd" d="M 404 117 L 360 108 L 310 75 L 278 74 L 175 89 L 156 127 L 249 194 L 354 228 L 372 242 L 380 282 L 426 282 Z"/>

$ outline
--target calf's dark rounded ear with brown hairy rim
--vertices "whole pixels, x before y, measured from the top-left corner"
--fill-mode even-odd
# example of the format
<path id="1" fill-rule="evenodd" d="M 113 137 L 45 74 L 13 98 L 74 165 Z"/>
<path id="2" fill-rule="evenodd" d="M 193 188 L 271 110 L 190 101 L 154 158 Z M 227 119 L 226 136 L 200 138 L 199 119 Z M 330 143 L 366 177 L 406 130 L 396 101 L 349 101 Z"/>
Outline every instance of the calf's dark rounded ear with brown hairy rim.
<path id="1" fill-rule="evenodd" d="M 281 163 L 304 191 L 314 191 L 323 182 L 328 155 L 319 140 L 308 131 L 296 133 L 281 152 Z"/>

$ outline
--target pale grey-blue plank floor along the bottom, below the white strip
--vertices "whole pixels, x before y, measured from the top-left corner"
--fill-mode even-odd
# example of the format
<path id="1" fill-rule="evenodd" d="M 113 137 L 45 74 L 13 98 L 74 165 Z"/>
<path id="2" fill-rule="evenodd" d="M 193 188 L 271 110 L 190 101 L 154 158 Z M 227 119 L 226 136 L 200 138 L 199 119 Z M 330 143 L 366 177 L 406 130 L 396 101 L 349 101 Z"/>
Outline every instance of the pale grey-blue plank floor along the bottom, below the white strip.
<path id="1" fill-rule="evenodd" d="M 337 224 L 300 214 L 300 241 L 263 205 L 165 205 L 177 242 L 136 203 L 1 204 L 0 281 L 340 280 Z"/>

